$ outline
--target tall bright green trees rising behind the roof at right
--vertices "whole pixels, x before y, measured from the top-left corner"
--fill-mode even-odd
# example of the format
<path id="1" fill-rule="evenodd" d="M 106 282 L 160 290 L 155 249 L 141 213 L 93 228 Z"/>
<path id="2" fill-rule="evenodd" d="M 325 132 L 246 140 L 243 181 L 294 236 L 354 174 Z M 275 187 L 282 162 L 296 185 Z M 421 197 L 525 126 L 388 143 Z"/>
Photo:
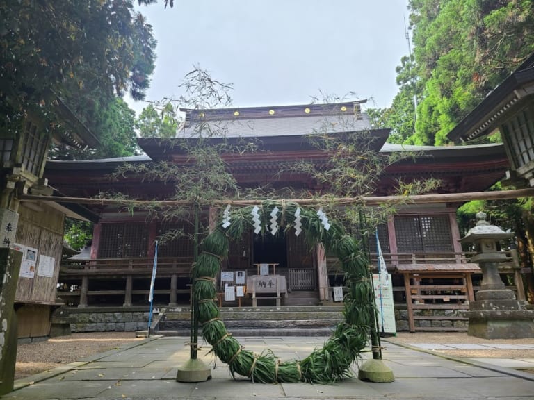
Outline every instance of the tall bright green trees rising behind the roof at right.
<path id="1" fill-rule="evenodd" d="M 531 0 L 410 0 L 409 8 L 414 58 L 401 60 L 400 90 L 373 119 L 392 128 L 390 142 L 446 144 L 451 128 L 533 53 L 534 7 Z"/>

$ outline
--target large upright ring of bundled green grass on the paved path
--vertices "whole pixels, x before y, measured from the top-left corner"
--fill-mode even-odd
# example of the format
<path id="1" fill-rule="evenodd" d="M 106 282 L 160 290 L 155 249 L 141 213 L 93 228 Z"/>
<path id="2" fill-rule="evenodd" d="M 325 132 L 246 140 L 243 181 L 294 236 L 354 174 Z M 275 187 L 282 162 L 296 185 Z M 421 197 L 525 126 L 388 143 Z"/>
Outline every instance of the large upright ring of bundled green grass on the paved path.
<path id="1" fill-rule="evenodd" d="M 286 231 L 291 230 L 298 204 L 265 201 L 261 206 L 261 215 L 270 215 L 275 207 L 282 210 L 280 219 L 284 221 Z M 218 309 L 213 307 L 214 282 L 220 269 L 220 259 L 228 251 L 229 239 L 240 239 L 243 226 L 252 226 L 251 210 L 252 206 L 232 210 L 231 225 L 223 229 L 218 222 L 215 230 L 202 241 L 200 256 L 193 269 L 193 296 L 199 303 L 198 317 L 204 340 L 212 345 L 213 352 L 223 363 L 229 364 L 232 375 L 248 376 L 257 383 L 304 381 L 324 384 L 350 376 L 350 366 L 366 346 L 374 324 L 373 290 L 368 278 L 369 260 L 360 242 L 346 234 L 341 223 L 333 220 L 327 230 L 313 208 L 301 209 L 302 228 L 309 244 L 313 246 L 323 242 L 327 251 L 332 251 L 339 258 L 348 286 L 343 311 L 346 321 L 337 326 L 321 349 L 316 349 L 301 361 L 282 362 L 270 351 L 254 354 L 242 349 L 239 342 L 227 333 L 224 323 L 219 319 Z M 213 268 L 213 263 L 216 263 L 216 268 Z"/>

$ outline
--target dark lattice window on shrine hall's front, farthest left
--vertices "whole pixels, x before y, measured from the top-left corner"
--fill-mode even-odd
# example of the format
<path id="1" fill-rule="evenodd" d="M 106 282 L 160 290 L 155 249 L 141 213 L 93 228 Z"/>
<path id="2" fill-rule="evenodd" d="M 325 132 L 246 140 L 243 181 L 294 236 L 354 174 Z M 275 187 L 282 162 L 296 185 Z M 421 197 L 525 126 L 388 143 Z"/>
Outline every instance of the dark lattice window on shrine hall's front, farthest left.
<path id="1" fill-rule="evenodd" d="M 102 224 L 99 258 L 146 257 L 147 224 Z"/>

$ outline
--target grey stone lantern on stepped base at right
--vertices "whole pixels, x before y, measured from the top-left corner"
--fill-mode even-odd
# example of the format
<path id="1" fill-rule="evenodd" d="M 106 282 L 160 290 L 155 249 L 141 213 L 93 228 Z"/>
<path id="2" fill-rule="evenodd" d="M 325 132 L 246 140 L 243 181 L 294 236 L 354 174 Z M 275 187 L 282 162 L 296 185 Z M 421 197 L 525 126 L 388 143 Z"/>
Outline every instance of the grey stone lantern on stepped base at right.
<path id="1" fill-rule="evenodd" d="M 471 262 L 482 269 L 480 290 L 465 313 L 469 317 L 467 334 L 485 339 L 534 338 L 533 311 L 517 301 L 499 276 L 499 263 L 506 256 L 499 252 L 498 243 L 511 238 L 513 233 L 489 224 L 485 213 L 477 213 L 476 219 L 476 226 L 460 239 L 462 243 L 474 244 L 476 255 Z"/>

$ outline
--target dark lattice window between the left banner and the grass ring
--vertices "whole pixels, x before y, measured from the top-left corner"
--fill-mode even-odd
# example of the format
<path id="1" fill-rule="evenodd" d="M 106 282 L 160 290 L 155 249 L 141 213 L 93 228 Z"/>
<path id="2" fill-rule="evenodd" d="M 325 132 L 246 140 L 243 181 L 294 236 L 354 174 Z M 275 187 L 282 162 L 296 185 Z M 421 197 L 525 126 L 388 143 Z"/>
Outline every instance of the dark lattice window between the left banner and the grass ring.
<path id="1" fill-rule="evenodd" d="M 158 236 L 163 235 L 163 238 L 165 238 L 165 235 L 174 236 L 171 240 L 163 240 L 158 247 L 158 256 L 192 257 L 195 246 L 193 242 L 194 233 L 193 225 L 187 222 L 162 222 L 158 224 Z"/>

